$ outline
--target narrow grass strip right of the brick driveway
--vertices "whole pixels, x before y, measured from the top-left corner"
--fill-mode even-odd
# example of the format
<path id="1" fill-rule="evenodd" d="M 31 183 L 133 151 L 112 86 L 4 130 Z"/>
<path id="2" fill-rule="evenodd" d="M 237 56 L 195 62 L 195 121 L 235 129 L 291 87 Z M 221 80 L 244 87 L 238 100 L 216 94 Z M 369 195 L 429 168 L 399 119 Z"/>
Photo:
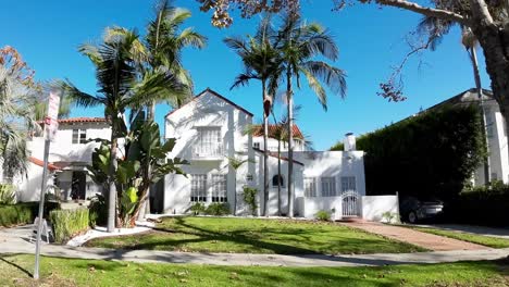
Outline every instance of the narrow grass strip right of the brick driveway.
<path id="1" fill-rule="evenodd" d="M 476 245 L 487 246 L 492 248 L 508 248 L 509 240 L 504 238 L 491 237 L 491 236 L 483 236 L 477 234 L 471 233 L 463 233 L 463 232 L 456 232 L 456 230 L 446 230 L 433 227 L 417 227 L 417 226 L 405 226 L 409 227 L 419 232 L 435 234 L 439 236 L 445 236 L 458 240 L 463 240 Z"/>

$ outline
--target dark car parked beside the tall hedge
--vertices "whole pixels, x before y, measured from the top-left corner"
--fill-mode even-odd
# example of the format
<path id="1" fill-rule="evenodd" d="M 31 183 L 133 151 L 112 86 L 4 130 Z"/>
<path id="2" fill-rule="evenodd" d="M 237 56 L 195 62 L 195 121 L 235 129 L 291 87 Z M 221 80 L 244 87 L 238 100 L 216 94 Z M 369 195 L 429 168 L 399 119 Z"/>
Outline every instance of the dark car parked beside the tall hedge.
<path id="1" fill-rule="evenodd" d="M 444 202 L 438 199 L 419 200 L 414 197 L 407 197 L 399 202 L 401 220 L 409 223 L 434 219 L 442 214 L 443 210 Z"/>

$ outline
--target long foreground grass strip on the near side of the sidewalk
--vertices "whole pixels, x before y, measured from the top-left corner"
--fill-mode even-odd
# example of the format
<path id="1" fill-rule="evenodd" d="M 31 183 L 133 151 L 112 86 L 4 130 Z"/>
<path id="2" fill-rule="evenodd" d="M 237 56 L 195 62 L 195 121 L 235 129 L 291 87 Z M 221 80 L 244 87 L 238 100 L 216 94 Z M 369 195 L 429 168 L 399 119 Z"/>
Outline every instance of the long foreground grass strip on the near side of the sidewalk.
<path id="1" fill-rule="evenodd" d="M 509 286 L 509 262 L 383 267 L 261 267 L 0 255 L 0 286 Z"/>

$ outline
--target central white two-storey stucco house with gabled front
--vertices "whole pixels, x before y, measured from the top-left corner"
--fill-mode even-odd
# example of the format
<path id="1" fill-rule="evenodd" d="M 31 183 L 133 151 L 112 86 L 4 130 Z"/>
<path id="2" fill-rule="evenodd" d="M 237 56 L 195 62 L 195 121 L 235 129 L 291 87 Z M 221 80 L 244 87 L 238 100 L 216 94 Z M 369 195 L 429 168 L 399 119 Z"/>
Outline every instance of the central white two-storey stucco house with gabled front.
<path id="1" fill-rule="evenodd" d="M 187 176 L 170 174 L 165 177 L 165 213 L 187 213 L 196 202 L 232 203 L 236 195 L 237 214 L 248 214 L 241 199 L 245 186 L 257 188 L 258 200 L 263 202 L 262 139 L 259 133 L 254 133 L 254 137 L 245 133 L 252 125 L 252 116 L 249 111 L 210 89 L 166 115 L 165 138 L 177 139 L 170 158 L 183 158 L 190 164 L 184 166 Z M 303 137 L 297 126 L 294 130 L 297 140 L 301 140 Z M 277 214 L 280 178 L 282 212 L 287 213 L 288 159 L 282 153 L 280 177 L 278 157 L 274 152 L 277 150 L 276 140 L 269 145 L 269 214 Z M 250 161 L 235 171 L 227 157 Z M 305 151 L 301 145 L 294 153 L 294 167 L 297 215 L 314 217 L 320 210 L 334 210 L 336 219 L 361 216 L 360 201 L 365 195 L 362 151 L 353 147 L 349 151 Z"/>

